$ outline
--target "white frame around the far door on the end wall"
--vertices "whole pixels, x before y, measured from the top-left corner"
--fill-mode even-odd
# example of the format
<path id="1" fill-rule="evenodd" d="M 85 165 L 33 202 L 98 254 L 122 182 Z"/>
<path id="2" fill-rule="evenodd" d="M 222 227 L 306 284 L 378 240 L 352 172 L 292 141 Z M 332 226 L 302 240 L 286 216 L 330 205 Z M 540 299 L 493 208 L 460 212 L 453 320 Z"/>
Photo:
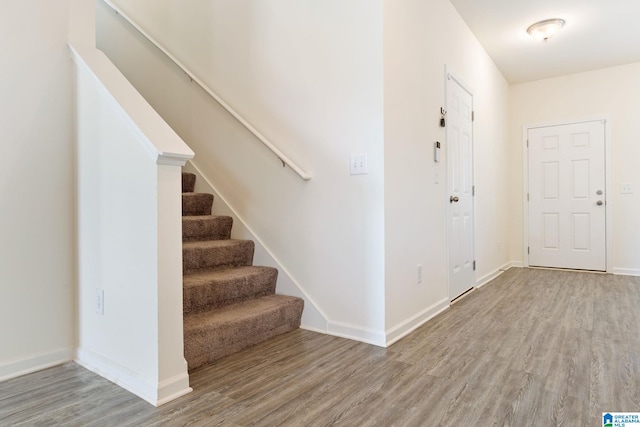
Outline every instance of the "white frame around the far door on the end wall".
<path id="1" fill-rule="evenodd" d="M 605 167 L 605 230 L 607 233 L 606 238 L 606 266 L 607 273 L 611 273 L 611 247 L 613 242 L 613 227 L 611 223 L 612 216 L 612 200 L 613 193 L 611 192 L 611 119 L 608 116 L 598 116 L 593 118 L 585 118 L 579 120 L 566 120 L 559 122 L 545 122 L 538 124 L 531 124 L 522 126 L 522 212 L 523 212 L 523 239 L 522 239 L 522 259 L 524 260 L 524 266 L 529 267 L 529 202 L 527 200 L 527 194 L 529 194 L 529 156 L 527 150 L 527 138 L 529 135 L 529 129 L 548 127 L 548 126 L 562 126 L 585 122 L 602 121 L 604 122 L 604 167 Z"/>

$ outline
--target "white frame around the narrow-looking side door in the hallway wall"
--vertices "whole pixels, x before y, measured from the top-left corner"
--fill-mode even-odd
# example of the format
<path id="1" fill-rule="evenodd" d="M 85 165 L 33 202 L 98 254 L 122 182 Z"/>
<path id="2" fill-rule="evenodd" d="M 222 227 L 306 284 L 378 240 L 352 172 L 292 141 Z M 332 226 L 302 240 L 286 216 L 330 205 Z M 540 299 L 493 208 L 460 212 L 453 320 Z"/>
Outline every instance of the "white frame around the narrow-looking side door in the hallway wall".
<path id="1" fill-rule="evenodd" d="M 445 98 L 445 105 L 447 105 L 447 100 L 448 100 L 448 90 L 447 90 L 447 81 L 448 80 L 453 80 L 455 81 L 460 87 L 462 87 L 462 89 L 464 89 L 467 93 L 469 93 L 469 95 L 471 95 L 471 102 L 473 104 L 473 102 L 475 101 L 474 99 L 474 95 L 473 95 L 473 91 L 471 90 L 471 88 L 464 83 L 463 80 L 461 80 L 456 73 L 454 73 L 451 68 L 448 65 L 445 65 L 444 67 L 444 98 Z M 475 109 L 475 107 L 473 107 Z M 445 139 L 446 141 L 446 139 Z M 450 256 L 450 250 L 451 250 L 451 203 L 449 202 L 449 195 L 450 195 L 450 182 L 449 182 L 449 150 L 448 150 L 449 146 L 448 144 L 445 143 L 445 153 L 446 153 L 446 158 L 445 158 L 445 165 L 446 165 L 446 172 L 445 172 L 445 203 L 447 206 L 447 227 L 446 227 L 446 236 L 447 236 L 447 294 L 448 294 L 448 298 L 449 301 L 451 301 L 451 256 Z M 471 181 L 472 181 L 472 185 L 475 187 L 475 127 L 471 126 Z M 475 190 L 474 190 L 475 192 Z M 472 236 L 471 239 L 473 241 L 472 244 L 472 250 L 473 250 L 473 259 L 476 259 L 476 198 L 475 196 L 472 197 L 471 200 L 471 204 L 472 204 Z M 475 261 L 474 261 L 475 262 Z M 476 277 L 476 270 L 474 268 L 473 270 L 473 286 L 471 287 L 471 289 L 475 288 L 477 285 L 477 277 Z"/>

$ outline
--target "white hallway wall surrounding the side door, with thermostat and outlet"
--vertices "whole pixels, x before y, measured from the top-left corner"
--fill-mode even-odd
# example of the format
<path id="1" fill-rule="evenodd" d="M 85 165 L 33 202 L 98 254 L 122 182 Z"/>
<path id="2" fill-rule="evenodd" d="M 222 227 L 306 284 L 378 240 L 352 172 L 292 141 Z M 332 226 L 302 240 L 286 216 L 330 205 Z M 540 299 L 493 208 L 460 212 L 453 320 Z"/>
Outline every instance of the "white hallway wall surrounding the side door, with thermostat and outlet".
<path id="1" fill-rule="evenodd" d="M 446 143 L 439 127 L 445 65 L 474 95 L 478 283 L 508 264 L 509 87 L 449 1 L 384 5 L 386 327 L 393 340 L 449 301 Z M 435 141 L 444 143 L 439 184 Z"/>

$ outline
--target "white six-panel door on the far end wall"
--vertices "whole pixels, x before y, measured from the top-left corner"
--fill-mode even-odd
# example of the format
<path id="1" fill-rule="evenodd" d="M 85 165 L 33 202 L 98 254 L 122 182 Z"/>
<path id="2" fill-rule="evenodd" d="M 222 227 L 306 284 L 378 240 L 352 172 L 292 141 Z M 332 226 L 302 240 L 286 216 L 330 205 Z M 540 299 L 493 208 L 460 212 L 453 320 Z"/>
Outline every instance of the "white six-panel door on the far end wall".
<path id="1" fill-rule="evenodd" d="M 606 270 L 605 122 L 528 129 L 529 265 Z"/>

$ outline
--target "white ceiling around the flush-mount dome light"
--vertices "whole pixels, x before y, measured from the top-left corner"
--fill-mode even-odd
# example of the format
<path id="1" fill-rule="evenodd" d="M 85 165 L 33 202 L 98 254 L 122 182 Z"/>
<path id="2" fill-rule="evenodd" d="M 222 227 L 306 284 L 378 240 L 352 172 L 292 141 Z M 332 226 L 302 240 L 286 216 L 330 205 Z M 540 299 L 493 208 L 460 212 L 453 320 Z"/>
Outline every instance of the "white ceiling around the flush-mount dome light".
<path id="1" fill-rule="evenodd" d="M 510 83 L 640 62 L 640 0 L 451 0 Z M 566 21 L 547 42 L 529 25 Z"/>

